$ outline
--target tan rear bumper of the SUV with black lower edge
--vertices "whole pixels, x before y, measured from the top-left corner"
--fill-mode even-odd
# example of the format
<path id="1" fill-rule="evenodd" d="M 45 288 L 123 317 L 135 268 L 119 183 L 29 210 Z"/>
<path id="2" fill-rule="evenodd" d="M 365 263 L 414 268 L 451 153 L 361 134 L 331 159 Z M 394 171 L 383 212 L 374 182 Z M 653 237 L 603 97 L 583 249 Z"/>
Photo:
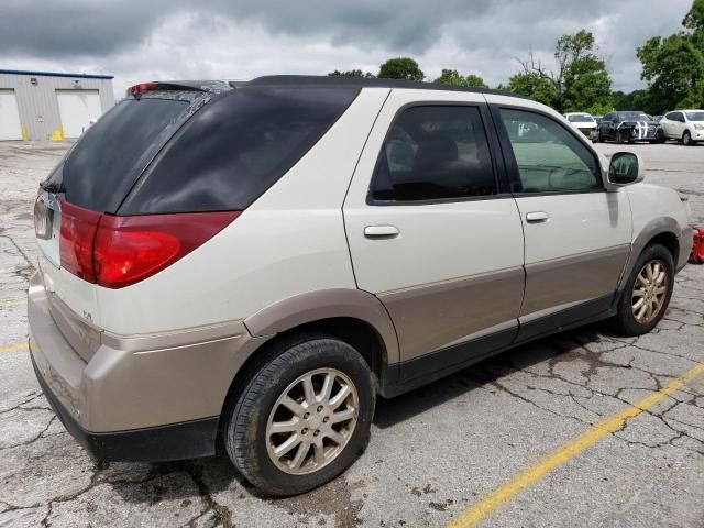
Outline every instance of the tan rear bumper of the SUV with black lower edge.
<path id="1" fill-rule="evenodd" d="M 134 461 L 215 453 L 232 380 L 266 338 L 252 338 L 237 321 L 158 336 L 100 331 L 86 360 L 54 320 L 50 295 L 37 272 L 28 295 L 32 363 L 52 407 L 86 450 Z"/>

